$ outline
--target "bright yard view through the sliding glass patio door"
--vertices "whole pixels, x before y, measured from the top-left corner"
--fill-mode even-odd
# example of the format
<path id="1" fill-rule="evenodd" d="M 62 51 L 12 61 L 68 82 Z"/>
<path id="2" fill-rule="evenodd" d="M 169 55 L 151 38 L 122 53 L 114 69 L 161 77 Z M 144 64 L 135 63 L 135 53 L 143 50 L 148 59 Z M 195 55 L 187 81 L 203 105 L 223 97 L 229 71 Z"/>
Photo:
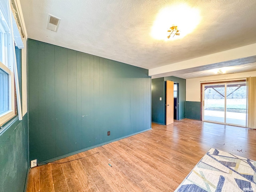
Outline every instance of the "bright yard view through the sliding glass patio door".
<path id="1" fill-rule="evenodd" d="M 204 84 L 202 120 L 246 127 L 246 82 Z"/>

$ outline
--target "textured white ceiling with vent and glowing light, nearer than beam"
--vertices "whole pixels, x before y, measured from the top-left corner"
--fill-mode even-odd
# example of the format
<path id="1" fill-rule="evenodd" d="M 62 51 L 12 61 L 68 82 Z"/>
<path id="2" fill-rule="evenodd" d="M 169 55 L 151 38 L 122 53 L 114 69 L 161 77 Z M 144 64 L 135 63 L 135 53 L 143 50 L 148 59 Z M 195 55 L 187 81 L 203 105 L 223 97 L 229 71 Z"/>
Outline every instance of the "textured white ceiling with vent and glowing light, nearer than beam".
<path id="1" fill-rule="evenodd" d="M 256 43 L 256 0 L 20 0 L 28 38 L 152 69 Z M 197 30 L 154 40 L 158 12 L 177 2 L 200 9 Z M 61 18 L 46 29 L 48 14 Z"/>

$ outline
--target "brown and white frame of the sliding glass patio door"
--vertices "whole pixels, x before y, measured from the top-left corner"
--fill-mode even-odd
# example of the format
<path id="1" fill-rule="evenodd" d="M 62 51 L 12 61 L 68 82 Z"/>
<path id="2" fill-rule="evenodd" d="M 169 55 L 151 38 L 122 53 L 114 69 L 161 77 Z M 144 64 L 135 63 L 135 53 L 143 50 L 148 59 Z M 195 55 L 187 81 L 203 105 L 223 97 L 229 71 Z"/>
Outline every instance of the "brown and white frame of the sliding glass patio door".
<path id="1" fill-rule="evenodd" d="M 201 99 L 200 99 L 200 120 L 202 121 L 202 115 L 203 115 L 203 101 L 204 101 L 204 85 L 205 84 L 225 84 L 225 83 L 235 83 L 235 82 L 246 82 L 246 79 L 243 80 L 230 80 L 230 81 L 216 81 L 216 82 L 205 82 L 205 83 L 201 83 Z M 226 86 L 225 86 L 225 97 L 226 97 Z M 226 100 L 226 98 L 225 98 Z M 226 110 L 226 102 L 225 102 L 225 110 Z M 247 116 L 247 115 L 246 115 Z M 206 121 L 206 122 L 210 122 L 210 121 Z M 220 123 L 220 124 L 224 124 L 226 125 L 226 112 L 225 112 L 225 117 L 224 117 L 224 123 L 221 122 L 213 122 L 213 123 Z M 229 125 L 233 125 L 233 124 L 229 124 Z M 240 125 L 235 125 L 234 126 L 240 126 Z M 244 127 L 244 126 L 242 126 Z M 247 127 L 247 122 L 246 122 L 246 126 Z"/>

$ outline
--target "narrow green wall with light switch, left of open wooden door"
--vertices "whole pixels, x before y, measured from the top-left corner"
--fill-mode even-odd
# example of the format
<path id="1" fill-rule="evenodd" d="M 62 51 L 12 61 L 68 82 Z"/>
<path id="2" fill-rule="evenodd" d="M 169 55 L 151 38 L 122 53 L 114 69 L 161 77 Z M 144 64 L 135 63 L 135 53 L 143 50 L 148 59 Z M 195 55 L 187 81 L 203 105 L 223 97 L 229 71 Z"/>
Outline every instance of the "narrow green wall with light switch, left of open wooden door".
<path id="1" fill-rule="evenodd" d="M 164 78 L 152 79 L 152 122 L 163 125 L 165 124 L 164 98 Z"/>

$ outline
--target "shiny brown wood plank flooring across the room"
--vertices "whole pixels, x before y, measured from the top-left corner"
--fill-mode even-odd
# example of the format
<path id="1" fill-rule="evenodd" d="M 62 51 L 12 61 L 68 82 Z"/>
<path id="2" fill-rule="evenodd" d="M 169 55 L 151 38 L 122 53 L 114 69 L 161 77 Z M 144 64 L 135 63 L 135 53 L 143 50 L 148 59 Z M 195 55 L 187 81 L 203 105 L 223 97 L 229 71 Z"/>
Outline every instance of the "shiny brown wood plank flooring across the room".
<path id="1" fill-rule="evenodd" d="M 211 147 L 256 160 L 256 130 L 190 119 L 152 124 L 57 161 L 66 163 L 30 169 L 27 192 L 170 192 Z"/>

